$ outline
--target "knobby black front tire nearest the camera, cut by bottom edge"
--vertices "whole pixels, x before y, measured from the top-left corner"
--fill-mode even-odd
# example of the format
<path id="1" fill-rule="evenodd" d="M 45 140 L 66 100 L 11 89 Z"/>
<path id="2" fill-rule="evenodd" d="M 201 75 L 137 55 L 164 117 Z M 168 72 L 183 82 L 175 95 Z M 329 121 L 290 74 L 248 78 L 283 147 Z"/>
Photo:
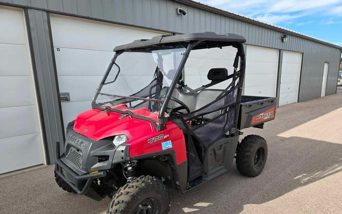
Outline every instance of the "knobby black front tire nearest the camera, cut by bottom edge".
<path id="1" fill-rule="evenodd" d="M 147 175 L 121 187 L 109 203 L 107 213 L 164 214 L 169 208 L 167 188 L 160 179 Z"/>

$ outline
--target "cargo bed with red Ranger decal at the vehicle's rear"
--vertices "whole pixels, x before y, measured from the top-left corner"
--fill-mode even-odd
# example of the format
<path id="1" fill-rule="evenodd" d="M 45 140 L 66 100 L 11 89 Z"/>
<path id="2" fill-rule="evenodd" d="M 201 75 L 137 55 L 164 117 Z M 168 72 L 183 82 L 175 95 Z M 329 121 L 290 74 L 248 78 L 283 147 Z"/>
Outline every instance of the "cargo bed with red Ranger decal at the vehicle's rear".
<path id="1" fill-rule="evenodd" d="M 241 96 L 238 129 L 263 128 L 264 122 L 274 119 L 276 104 L 276 97 Z"/>

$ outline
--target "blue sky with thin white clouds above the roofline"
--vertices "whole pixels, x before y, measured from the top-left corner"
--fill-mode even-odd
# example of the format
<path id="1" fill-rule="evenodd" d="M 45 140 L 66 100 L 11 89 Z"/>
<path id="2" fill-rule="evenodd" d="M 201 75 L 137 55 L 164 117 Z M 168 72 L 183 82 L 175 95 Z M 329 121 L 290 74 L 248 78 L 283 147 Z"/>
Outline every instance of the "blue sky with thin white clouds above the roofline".
<path id="1" fill-rule="evenodd" d="M 196 0 L 342 46 L 342 0 Z"/>

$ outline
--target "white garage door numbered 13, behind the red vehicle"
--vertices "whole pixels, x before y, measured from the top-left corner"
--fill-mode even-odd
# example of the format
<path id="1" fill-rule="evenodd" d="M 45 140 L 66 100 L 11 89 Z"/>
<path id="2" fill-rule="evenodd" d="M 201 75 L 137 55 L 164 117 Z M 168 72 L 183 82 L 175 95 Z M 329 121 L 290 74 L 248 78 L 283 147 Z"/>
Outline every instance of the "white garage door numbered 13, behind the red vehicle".
<path id="1" fill-rule="evenodd" d="M 62 102 L 64 128 L 91 109 L 91 99 L 115 46 L 165 34 L 57 15 L 51 16 L 51 30 L 59 91 L 70 94 L 70 101 Z"/>

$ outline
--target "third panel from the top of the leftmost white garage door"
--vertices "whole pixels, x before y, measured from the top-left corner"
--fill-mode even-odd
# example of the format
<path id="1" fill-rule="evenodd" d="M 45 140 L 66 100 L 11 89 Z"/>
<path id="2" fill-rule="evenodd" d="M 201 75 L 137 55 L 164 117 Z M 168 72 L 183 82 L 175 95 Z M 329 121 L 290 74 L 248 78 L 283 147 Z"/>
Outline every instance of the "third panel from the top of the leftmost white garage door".
<path id="1" fill-rule="evenodd" d="M 32 80 L 29 76 L 0 76 L 0 108 L 34 105 Z"/>

